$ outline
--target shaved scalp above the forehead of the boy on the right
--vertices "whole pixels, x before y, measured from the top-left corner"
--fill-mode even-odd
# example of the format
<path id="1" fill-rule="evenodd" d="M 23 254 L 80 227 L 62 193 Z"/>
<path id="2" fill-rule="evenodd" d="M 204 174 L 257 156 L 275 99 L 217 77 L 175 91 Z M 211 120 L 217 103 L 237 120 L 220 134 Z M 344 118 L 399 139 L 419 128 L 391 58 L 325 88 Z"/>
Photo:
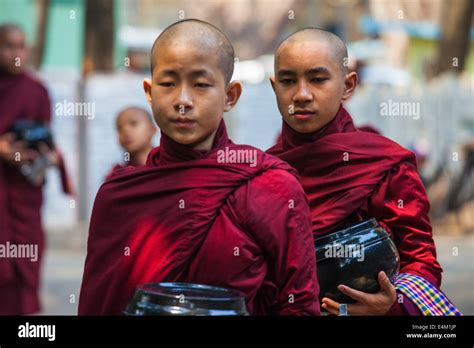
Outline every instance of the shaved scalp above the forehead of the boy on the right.
<path id="1" fill-rule="evenodd" d="M 339 36 L 322 29 L 305 28 L 298 30 L 284 39 L 275 51 L 275 67 L 277 66 L 280 53 L 283 48 L 289 47 L 295 43 L 301 42 L 323 42 L 330 50 L 330 55 L 336 64 L 340 67 L 341 72 L 345 75 L 348 72 L 347 65 L 347 47 Z"/>

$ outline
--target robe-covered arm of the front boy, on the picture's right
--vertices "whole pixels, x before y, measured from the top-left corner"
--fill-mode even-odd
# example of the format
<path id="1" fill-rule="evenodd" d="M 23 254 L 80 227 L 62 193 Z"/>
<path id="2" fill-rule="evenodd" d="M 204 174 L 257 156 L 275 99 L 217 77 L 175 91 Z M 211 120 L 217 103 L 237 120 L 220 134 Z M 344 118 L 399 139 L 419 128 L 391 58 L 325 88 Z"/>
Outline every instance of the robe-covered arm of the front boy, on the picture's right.
<path id="1" fill-rule="evenodd" d="M 298 180 L 282 170 L 253 180 L 246 225 L 262 247 L 274 290 L 264 294 L 269 314 L 319 315 L 309 208 Z"/>

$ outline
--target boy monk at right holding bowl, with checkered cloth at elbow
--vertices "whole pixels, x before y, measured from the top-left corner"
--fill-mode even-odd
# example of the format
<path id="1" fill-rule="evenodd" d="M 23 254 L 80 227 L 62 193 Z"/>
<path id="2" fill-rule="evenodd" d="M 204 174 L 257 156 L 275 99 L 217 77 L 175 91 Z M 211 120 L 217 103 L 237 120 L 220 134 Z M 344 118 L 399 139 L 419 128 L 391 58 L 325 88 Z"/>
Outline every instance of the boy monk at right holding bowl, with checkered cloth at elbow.
<path id="1" fill-rule="evenodd" d="M 353 93 L 357 74 L 347 71 L 346 62 L 344 43 L 323 30 L 298 31 L 279 45 L 270 82 L 283 128 L 268 153 L 299 171 L 315 237 L 376 218 L 398 248 L 401 274 L 395 289 L 380 272 L 376 294 L 341 284 L 339 290 L 357 302 L 323 298 L 322 307 L 349 315 L 459 314 L 438 290 L 442 270 L 415 157 L 354 127 L 342 102 Z M 436 294 L 430 297 L 428 288 Z"/>

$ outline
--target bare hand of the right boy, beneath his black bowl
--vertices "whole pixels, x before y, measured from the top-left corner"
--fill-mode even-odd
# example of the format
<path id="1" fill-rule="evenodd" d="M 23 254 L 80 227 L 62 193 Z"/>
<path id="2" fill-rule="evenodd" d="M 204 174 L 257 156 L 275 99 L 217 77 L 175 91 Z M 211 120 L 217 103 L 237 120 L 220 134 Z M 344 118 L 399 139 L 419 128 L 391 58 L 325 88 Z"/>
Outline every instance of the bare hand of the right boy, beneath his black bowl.
<path id="1" fill-rule="evenodd" d="M 347 305 L 349 315 L 384 315 L 390 310 L 397 299 L 395 287 L 383 271 L 378 274 L 378 281 L 380 291 L 375 294 L 365 293 L 345 285 L 337 287 L 340 292 L 357 301 Z M 338 302 L 327 297 L 324 297 L 322 302 L 322 307 L 330 314 L 339 315 Z"/>

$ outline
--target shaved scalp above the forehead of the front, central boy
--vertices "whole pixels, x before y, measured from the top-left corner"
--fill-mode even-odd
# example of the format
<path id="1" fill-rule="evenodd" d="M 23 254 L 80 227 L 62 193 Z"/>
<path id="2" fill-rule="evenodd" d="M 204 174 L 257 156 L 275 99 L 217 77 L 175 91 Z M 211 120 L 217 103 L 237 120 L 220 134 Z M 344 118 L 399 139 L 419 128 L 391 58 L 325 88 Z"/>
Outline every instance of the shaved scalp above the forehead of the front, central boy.
<path id="1" fill-rule="evenodd" d="M 192 45 L 209 55 L 217 55 L 226 84 L 234 73 L 234 48 L 225 34 L 210 23 L 186 19 L 167 27 L 155 40 L 150 54 L 151 74 L 156 54 L 173 45 Z"/>

